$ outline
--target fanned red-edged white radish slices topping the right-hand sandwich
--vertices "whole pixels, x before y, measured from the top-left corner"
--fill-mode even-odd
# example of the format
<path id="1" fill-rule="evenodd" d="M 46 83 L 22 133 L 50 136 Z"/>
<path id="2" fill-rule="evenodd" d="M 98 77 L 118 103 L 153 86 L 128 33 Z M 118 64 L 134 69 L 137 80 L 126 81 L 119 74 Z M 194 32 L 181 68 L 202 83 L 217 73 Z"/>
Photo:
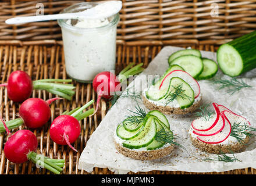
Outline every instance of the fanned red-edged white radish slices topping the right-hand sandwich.
<path id="1" fill-rule="evenodd" d="M 217 103 L 212 103 L 212 105 L 216 113 L 213 120 L 204 121 L 203 125 L 201 119 L 196 119 L 191 123 L 193 133 L 197 135 L 198 140 L 207 144 L 219 144 L 229 137 L 233 123 L 250 126 L 250 122 L 246 118 L 237 115 L 225 106 Z"/>

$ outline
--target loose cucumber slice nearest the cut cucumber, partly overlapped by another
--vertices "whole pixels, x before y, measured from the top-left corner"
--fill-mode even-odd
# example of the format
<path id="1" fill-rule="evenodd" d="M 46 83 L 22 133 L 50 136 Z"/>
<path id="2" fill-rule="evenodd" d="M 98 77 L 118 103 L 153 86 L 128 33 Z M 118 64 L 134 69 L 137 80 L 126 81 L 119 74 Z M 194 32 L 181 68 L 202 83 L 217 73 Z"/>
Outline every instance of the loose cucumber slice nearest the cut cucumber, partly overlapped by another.
<path id="1" fill-rule="evenodd" d="M 218 65 L 211 59 L 202 58 L 202 63 L 204 64 L 204 70 L 197 77 L 197 80 L 207 80 L 215 76 L 218 71 Z"/>

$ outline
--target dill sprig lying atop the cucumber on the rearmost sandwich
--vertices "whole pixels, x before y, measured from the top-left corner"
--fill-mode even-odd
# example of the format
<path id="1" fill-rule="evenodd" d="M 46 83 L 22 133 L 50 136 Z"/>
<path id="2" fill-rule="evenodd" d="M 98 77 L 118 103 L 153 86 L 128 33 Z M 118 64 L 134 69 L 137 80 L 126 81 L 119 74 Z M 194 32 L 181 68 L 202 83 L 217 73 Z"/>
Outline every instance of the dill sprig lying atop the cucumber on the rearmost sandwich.
<path id="1" fill-rule="evenodd" d="M 186 95 L 184 92 L 185 90 L 182 89 L 182 84 L 179 85 L 172 85 L 173 90 L 168 93 L 168 95 L 165 96 L 165 99 L 167 99 L 166 104 L 173 102 L 177 98 L 182 99 L 190 99 L 191 97 Z"/>

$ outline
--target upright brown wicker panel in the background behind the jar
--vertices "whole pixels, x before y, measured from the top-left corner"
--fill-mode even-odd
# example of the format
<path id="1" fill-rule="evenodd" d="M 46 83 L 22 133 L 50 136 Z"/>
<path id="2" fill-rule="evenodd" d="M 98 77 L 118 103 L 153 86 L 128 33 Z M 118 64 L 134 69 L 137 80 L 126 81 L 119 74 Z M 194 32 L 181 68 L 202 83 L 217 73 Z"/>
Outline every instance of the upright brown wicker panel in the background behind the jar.
<path id="1" fill-rule="evenodd" d="M 87 0 L 90 1 L 90 0 Z M 83 1 L 2 0 L 0 2 L 0 40 L 61 40 L 56 21 L 10 26 L 12 16 L 32 16 L 44 7 L 44 14 L 59 13 Z M 95 1 L 94 1 L 95 2 Z M 101 2 L 101 1 L 97 1 Z M 221 44 L 250 33 L 256 27 L 256 1 L 238 0 L 122 0 L 118 40 L 153 40 Z M 218 16 L 217 16 L 218 13 Z M 175 40 L 175 41 L 173 41 Z"/>

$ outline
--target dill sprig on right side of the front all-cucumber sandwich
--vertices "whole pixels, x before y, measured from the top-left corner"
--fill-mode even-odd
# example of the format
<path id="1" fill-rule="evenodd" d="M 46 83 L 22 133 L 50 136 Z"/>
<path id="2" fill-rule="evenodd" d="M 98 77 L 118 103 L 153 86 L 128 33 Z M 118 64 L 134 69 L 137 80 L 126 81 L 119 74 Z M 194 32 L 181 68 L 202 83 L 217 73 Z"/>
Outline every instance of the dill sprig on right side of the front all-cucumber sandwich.
<path id="1" fill-rule="evenodd" d="M 166 131 L 164 128 L 162 128 L 155 135 L 155 140 L 157 140 L 158 142 L 161 142 L 163 144 L 173 144 L 173 145 L 180 146 L 180 148 L 183 148 L 186 151 L 184 146 L 182 146 L 182 145 L 178 144 L 177 142 L 173 141 L 175 139 L 175 137 L 178 137 L 178 136 L 174 135 L 172 133 L 172 131 Z"/>

